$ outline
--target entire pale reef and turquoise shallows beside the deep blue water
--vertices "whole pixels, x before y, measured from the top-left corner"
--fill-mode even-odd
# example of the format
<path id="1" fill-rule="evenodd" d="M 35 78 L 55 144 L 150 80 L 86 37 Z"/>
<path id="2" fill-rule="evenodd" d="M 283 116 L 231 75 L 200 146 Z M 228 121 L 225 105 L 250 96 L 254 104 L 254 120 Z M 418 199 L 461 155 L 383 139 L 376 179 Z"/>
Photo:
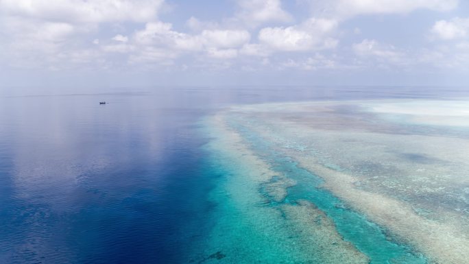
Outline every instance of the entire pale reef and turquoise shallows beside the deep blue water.
<path id="1" fill-rule="evenodd" d="M 208 125 L 218 193 L 269 234 L 258 247 L 292 237 L 258 263 L 465 263 L 468 120 L 465 100 L 234 106 Z"/>

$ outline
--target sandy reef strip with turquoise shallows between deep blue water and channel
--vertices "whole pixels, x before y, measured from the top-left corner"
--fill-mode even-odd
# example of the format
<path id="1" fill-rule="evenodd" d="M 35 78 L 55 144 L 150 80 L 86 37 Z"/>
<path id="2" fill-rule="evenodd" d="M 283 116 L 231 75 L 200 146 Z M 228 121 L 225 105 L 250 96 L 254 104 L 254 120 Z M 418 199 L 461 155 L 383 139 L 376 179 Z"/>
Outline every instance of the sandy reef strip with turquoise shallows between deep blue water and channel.
<path id="1" fill-rule="evenodd" d="M 215 138 L 208 149 L 233 173 L 212 193 L 213 199 L 223 193 L 232 208 L 221 213 L 202 254 L 211 256 L 220 251 L 224 258 L 206 257 L 203 263 L 368 263 L 368 257 L 344 241 L 333 222 L 312 204 L 265 206 L 266 200 L 281 202 L 295 182 L 269 169 L 241 136 L 228 128 L 224 117 L 215 115 L 206 121 L 206 127 Z M 267 198 L 260 187 L 265 188 Z"/>

